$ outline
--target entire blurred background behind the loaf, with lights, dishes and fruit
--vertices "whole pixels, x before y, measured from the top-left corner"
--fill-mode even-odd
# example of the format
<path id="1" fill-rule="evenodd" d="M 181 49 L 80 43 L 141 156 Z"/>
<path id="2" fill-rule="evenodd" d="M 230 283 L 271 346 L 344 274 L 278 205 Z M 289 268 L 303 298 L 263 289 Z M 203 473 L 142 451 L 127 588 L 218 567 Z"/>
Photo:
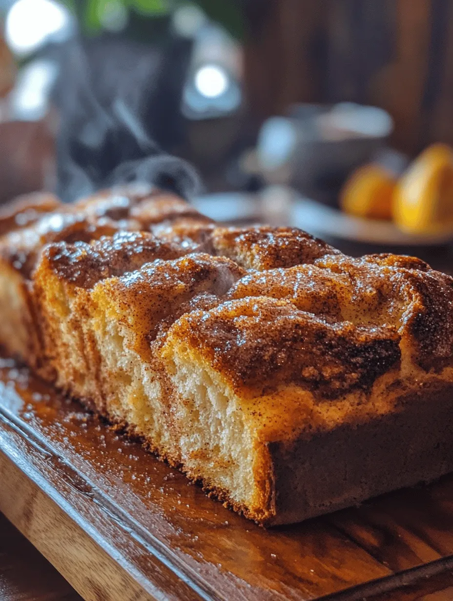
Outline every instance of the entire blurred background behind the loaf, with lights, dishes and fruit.
<path id="1" fill-rule="evenodd" d="M 146 138 L 221 221 L 453 269 L 453 0 L 0 0 L 0 23 L 0 203 L 72 200 L 69 146 L 108 171 Z"/>

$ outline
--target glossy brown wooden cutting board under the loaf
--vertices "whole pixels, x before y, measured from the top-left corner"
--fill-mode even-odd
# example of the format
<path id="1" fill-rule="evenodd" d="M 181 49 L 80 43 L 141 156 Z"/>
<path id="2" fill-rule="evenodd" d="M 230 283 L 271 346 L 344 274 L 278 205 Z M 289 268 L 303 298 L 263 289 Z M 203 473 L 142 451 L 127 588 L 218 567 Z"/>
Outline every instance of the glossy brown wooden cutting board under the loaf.
<path id="1" fill-rule="evenodd" d="M 453 477 L 266 530 L 8 359 L 0 511 L 87 600 L 362 600 L 453 568 Z"/>

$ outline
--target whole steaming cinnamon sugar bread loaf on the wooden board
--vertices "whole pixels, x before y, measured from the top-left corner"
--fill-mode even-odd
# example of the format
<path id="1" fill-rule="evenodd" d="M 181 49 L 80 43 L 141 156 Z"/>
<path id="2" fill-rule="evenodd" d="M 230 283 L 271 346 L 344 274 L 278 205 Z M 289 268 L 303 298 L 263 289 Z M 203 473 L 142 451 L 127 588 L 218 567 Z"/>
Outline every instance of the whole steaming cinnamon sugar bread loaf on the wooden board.
<path id="1" fill-rule="evenodd" d="M 297 522 L 453 471 L 449 276 L 158 193 L 58 211 L 0 239 L 1 342 L 235 510 Z"/>

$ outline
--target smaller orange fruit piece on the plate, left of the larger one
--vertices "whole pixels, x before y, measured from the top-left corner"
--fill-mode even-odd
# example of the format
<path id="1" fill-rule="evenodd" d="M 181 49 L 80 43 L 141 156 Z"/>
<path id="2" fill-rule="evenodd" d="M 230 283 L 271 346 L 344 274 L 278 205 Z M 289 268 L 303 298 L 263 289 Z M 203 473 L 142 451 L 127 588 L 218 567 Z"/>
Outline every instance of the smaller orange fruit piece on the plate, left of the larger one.
<path id="1" fill-rule="evenodd" d="M 380 165 L 359 167 L 343 186 L 341 208 L 357 217 L 392 219 L 395 186 L 395 177 Z"/>

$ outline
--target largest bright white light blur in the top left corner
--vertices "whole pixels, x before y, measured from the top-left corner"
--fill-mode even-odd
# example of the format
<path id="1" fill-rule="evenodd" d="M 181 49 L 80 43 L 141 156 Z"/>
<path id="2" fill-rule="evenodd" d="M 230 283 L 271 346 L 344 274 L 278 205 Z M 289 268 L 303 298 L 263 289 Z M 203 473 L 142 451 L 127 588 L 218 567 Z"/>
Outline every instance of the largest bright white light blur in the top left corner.
<path id="1" fill-rule="evenodd" d="M 49 35 L 69 28 L 66 8 L 54 0 L 17 0 L 5 22 L 8 46 L 17 54 L 33 52 Z"/>

